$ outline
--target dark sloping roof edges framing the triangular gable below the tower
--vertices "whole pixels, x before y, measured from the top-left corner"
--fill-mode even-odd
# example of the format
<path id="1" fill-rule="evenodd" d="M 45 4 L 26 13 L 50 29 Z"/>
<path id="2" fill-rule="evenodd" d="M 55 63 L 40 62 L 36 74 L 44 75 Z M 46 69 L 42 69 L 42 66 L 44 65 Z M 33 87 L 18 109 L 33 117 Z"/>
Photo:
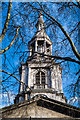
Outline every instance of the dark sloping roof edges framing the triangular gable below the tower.
<path id="1" fill-rule="evenodd" d="M 14 110 L 14 109 L 17 109 L 17 108 L 20 108 L 23 106 L 27 106 L 34 102 L 36 102 L 37 106 L 39 106 L 39 107 L 43 107 L 43 108 L 49 109 L 51 111 L 56 111 L 60 114 L 63 114 L 65 116 L 69 116 L 72 118 L 80 118 L 80 108 L 50 99 L 46 96 L 39 96 L 39 95 L 37 95 L 36 97 L 34 97 L 33 99 L 30 99 L 28 101 L 24 101 L 22 103 L 14 104 L 14 105 L 3 108 L 2 114 L 6 114 L 9 111 L 11 112 L 11 110 Z M 43 112 L 43 111 L 41 111 L 41 112 Z"/>

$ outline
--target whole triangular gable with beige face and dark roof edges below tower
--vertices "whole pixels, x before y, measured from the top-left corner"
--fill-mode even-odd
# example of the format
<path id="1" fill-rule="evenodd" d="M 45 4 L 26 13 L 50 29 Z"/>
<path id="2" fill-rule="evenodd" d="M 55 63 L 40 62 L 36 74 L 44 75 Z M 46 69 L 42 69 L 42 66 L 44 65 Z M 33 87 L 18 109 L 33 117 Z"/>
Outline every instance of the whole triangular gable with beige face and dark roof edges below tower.
<path id="1" fill-rule="evenodd" d="M 38 97 L 2 109 L 3 118 L 80 118 L 80 108 Z"/>

